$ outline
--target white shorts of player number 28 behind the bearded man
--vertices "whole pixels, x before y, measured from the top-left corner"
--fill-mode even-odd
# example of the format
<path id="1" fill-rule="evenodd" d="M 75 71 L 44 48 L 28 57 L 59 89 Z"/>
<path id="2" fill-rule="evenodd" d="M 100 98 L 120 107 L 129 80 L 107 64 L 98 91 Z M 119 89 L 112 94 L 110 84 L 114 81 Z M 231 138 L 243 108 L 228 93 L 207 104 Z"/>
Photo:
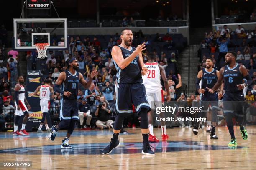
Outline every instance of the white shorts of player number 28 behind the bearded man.
<path id="1" fill-rule="evenodd" d="M 163 90 L 154 93 L 151 93 L 146 90 L 146 95 L 151 109 L 154 109 L 155 105 L 156 107 L 163 106 Z"/>

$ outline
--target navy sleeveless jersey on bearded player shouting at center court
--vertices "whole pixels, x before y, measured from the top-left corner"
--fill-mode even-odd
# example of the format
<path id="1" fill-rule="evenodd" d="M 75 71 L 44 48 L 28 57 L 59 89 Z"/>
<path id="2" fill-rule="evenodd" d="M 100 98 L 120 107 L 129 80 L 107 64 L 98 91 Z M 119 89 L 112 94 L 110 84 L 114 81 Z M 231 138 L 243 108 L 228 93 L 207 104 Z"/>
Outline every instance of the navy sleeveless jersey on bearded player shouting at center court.
<path id="1" fill-rule="evenodd" d="M 126 48 L 121 47 L 120 45 L 118 45 L 118 47 L 120 47 L 124 59 L 129 57 L 136 49 L 134 47 L 130 47 L 131 50 L 128 50 Z M 117 70 L 116 76 L 117 76 L 118 84 L 143 82 L 141 78 L 141 70 L 138 63 L 138 55 L 124 69 L 121 69 L 120 67 L 118 67 L 118 65 L 115 62 L 114 64 Z"/>

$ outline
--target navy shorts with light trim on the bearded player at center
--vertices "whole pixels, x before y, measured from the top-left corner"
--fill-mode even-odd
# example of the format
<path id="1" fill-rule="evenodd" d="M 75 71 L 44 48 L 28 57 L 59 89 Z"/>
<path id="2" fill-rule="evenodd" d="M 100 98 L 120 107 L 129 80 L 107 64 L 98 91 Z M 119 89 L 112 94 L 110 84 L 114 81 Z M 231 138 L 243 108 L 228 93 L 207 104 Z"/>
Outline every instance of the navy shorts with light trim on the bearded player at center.
<path id="1" fill-rule="evenodd" d="M 141 111 L 141 108 L 148 109 L 148 112 L 151 110 L 143 82 L 117 84 L 115 91 L 115 107 L 118 113 L 132 113 L 133 105 L 136 107 L 137 113 Z"/>

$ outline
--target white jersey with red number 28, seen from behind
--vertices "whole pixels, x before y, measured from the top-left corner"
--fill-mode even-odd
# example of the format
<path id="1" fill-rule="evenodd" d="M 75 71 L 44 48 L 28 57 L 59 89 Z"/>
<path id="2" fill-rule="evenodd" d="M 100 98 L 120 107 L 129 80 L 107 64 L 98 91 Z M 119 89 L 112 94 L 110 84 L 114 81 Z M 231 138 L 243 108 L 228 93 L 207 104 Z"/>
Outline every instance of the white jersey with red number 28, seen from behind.
<path id="1" fill-rule="evenodd" d="M 161 75 L 160 69 L 157 62 L 145 63 L 144 67 L 148 68 L 146 75 L 142 76 L 144 86 L 146 87 L 146 92 L 151 93 L 158 92 L 162 90 L 161 86 Z"/>

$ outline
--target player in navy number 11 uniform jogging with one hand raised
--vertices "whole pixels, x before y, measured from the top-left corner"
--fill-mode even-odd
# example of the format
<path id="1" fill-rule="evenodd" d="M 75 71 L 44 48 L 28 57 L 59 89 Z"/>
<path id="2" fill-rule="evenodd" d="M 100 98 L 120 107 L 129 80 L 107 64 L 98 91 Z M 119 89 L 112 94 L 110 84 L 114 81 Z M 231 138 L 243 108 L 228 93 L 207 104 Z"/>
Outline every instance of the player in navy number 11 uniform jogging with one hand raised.
<path id="1" fill-rule="evenodd" d="M 89 81 L 86 82 L 83 75 L 77 71 L 79 65 L 76 58 L 72 57 L 67 60 L 66 65 L 67 70 L 59 74 L 59 77 L 54 84 L 54 91 L 61 94 L 61 122 L 58 125 L 51 127 L 49 137 L 54 141 L 58 130 L 67 128 L 67 136 L 62 140 L 61 148 L 72 149 L 72 146 L 69 145 L 69 137 L 74 130 L 76 121 L 79 120 L 77 102 L 78 83 L 80 82 L 86 89 L 89 88 L 93 77 L 97 74 L 97 71 L 92 71 Z"/>

